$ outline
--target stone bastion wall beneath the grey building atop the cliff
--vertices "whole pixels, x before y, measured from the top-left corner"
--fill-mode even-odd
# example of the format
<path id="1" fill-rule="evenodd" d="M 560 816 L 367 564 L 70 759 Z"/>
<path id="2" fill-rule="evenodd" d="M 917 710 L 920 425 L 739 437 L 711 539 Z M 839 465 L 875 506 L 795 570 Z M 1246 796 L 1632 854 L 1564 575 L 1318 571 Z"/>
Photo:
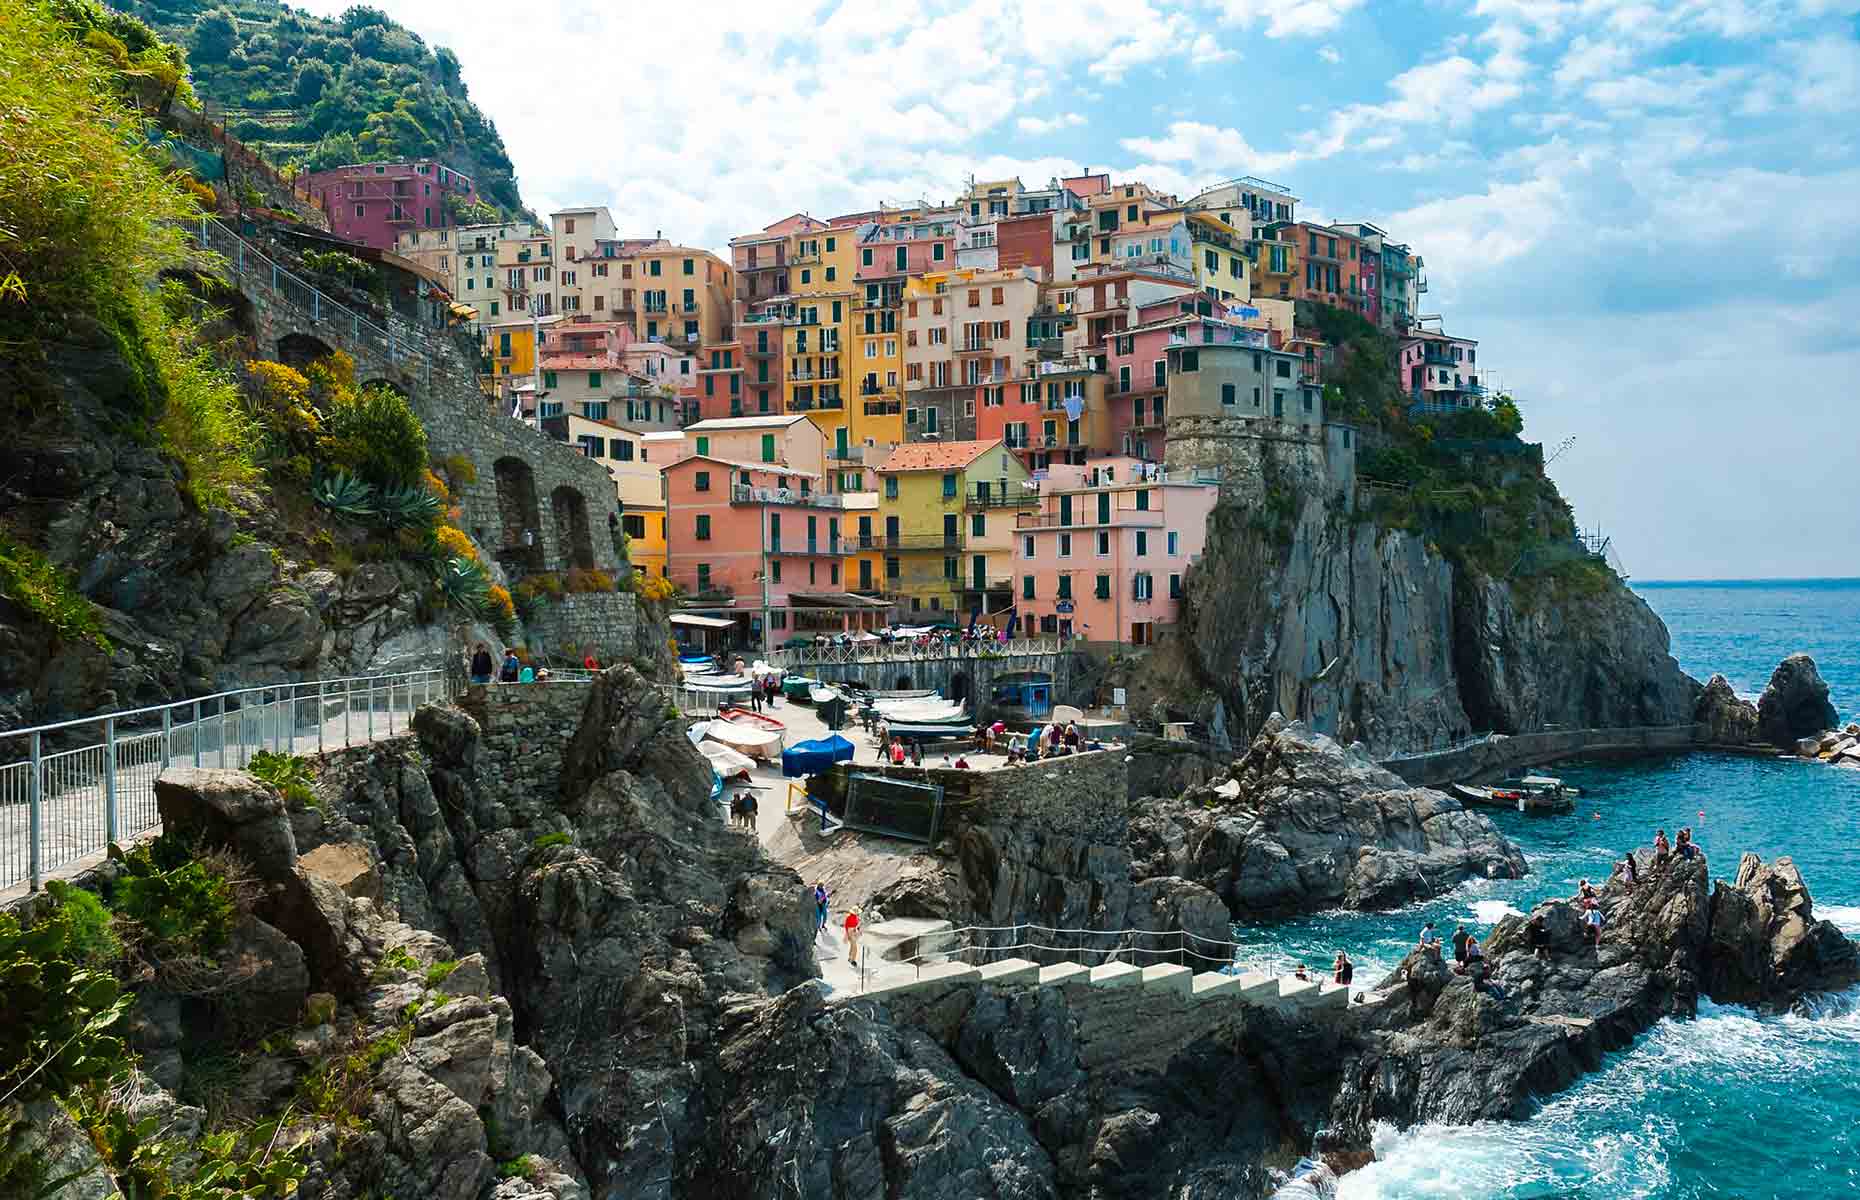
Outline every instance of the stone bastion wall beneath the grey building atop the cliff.
<path id="1" fill-rule="evenodd" d="M 1261 497 L 1274 482 L 1348 493 L 1356 487 L 1356 430 L 1335 422 L 1170 417 L 1164 461 L 1170 471 L 1218 467 L 1224 497 Z"/>

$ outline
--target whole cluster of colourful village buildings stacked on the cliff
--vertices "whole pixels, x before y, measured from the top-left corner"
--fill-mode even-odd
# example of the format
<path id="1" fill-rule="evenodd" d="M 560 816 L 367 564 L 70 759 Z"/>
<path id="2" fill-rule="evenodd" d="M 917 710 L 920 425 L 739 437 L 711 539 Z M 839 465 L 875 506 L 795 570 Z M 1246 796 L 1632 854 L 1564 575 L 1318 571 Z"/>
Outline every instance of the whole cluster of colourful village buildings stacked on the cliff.
<path id="1" fill-rule="evenodd" d="M 634 569 L 731 646 L 976 618 L 1155 640 L 1228 467 L 1209 447 L 1302 443 L 1354 478 L 1296 301 L 1397 337 L 1417 409 L 1488 402 L 1477 342 L 1421 314 L 1421 255 L 1263 179 L 976 180 L 792 214 L 727 260 L 604 207 L 452 223 L 472 184 L 439 162 L 301 186 L 337 236 L 439 281 L 489 404 L 601 461 Z"/>

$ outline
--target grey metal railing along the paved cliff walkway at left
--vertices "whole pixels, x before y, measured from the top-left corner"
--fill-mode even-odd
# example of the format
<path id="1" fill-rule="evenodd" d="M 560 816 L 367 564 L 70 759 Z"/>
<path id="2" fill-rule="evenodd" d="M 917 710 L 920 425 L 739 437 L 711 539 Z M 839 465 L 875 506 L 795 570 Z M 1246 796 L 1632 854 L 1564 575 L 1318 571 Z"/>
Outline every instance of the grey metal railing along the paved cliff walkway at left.
<path id="1" fill-rule="evenodd" d="M 459 683 L 445 670 L 281 683 L 4 731 L 0 748 L 24 757 L 0 765 L 0 891 L 37 891 L 48 871 L 156 828 L 154 780 L 167 767 L 246 767 L 260 750 L 394 737 Z"/>

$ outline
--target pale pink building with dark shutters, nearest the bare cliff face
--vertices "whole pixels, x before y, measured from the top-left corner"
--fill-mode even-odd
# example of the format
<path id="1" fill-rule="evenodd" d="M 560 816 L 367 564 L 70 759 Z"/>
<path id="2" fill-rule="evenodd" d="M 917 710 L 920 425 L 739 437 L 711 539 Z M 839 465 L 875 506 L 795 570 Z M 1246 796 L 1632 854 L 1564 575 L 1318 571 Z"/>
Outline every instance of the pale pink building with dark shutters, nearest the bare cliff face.
<path id="1" fill-rule="evenodd" d="M 1014 603 L 1040 633 L 1148 646 L 1181 621 L 1220 487 L 1133 458 L 1055 465 L 1014 528 Z"/>

